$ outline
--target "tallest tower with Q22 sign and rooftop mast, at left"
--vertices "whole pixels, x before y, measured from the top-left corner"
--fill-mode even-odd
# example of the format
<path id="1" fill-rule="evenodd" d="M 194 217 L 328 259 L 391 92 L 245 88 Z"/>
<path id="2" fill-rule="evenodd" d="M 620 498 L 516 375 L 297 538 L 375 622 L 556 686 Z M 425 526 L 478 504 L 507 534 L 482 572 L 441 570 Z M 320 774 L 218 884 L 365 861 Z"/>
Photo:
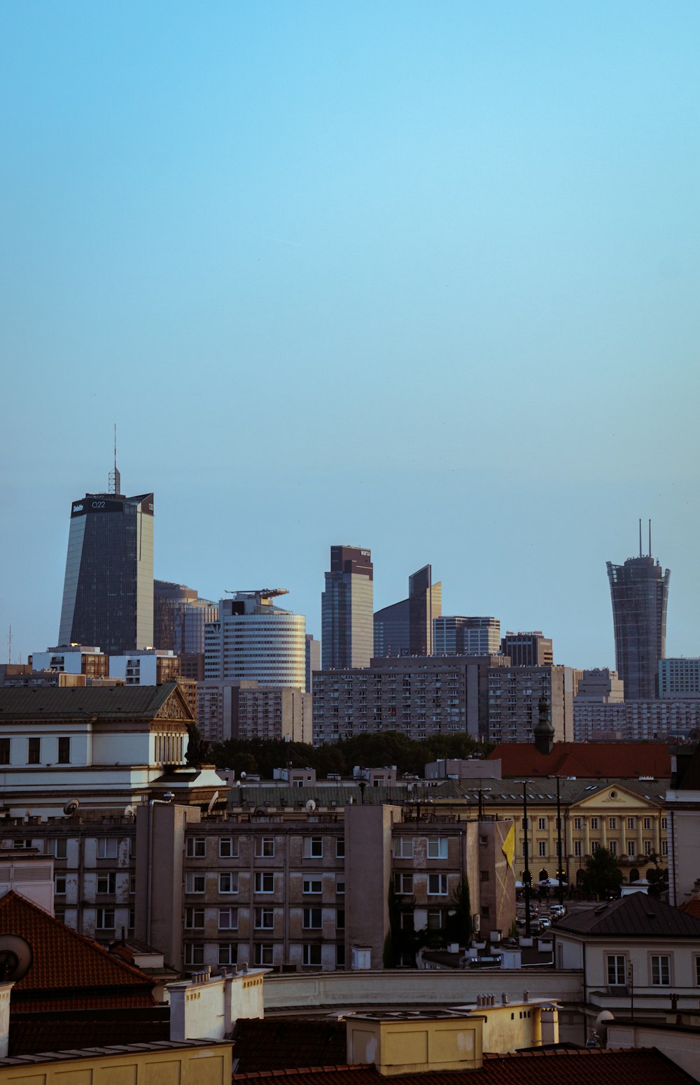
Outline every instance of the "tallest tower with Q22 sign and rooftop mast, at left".
<path id="1" fill-rule="evenodd" d="M 116 467 L 110 483 L 71 507 L 59 629 L 107 654 L 153 644 L 153 494 L 125 497 Z"/>

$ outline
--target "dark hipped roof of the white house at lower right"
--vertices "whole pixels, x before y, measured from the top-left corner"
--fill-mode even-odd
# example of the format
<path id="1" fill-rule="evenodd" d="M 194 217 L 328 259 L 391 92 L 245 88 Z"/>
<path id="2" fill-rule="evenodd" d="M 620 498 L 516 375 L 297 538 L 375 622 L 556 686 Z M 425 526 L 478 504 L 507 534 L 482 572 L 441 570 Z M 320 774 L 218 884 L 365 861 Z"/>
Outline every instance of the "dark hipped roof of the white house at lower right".
<path id="1" fill-rule="evenodd" d="M 700 919 L 647 893 L 631 893 L 597 908 L 572 912 L 557 920 L 556 930 L 557 933 L 700 941 Z"/>

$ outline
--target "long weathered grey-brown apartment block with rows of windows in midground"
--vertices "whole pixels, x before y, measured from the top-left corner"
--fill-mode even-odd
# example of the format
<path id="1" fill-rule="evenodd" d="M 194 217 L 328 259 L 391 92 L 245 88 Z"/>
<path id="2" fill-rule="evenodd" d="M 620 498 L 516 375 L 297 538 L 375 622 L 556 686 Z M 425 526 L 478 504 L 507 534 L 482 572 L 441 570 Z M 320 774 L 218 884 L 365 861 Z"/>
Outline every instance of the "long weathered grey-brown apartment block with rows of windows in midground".
<path id="1" fill-rule="evenodd" d="M 413 821 L 383 804 L 290 809 L 282 819 L 272 809 L 221 818 L 161 802 L 133 816 L 12 819 L 1 837 L 2 846 L 54 857 L 56 916 L 98 941 L 124 928 L 184 971 L 245 962 L 333 970 L 382 968 L 386 936 L 399 929 L 440 933 L 464 876 L 474 914 L 507 930 L 510 828 Z"/>

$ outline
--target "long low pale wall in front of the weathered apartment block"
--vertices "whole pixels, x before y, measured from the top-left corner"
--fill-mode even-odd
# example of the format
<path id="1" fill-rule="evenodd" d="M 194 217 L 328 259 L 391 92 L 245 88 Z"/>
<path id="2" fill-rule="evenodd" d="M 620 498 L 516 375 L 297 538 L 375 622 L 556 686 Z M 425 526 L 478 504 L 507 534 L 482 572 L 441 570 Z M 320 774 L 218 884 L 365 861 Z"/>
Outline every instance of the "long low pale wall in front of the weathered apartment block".
<path id="1" fill-rule="evenodd" d="M 263 997 L 265 1012 L 292 1007 L 463 1005 L 476 1001 L 476 996 L 505 992 L 512 1001 L 520 1001 L 523 991 L 531 998 L 556 998 L 561 1003 L 580 1003 L 583 998 L 583 972 L 537 969 L 536 972 L 516 969 L 507 971 L 460 970 L 427 971 L 406 969 L 396 972 L 315 972 L 311 975 L 290 973 L 267 975 Z"/>

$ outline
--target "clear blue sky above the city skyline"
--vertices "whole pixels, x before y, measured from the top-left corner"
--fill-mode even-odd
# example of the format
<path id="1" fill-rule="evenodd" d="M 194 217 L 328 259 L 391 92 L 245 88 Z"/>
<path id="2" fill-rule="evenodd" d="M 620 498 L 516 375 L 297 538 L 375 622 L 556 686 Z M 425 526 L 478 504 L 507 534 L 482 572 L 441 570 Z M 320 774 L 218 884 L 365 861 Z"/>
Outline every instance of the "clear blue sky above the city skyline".
<path id="1" fill-rule="evenodd" d="M 0 658 L 55 642 L 71 501 L 155 492 L 156 575 L 614 661 L 638 516 L 700 654 L 700 8 L 0 7 Z"/>

